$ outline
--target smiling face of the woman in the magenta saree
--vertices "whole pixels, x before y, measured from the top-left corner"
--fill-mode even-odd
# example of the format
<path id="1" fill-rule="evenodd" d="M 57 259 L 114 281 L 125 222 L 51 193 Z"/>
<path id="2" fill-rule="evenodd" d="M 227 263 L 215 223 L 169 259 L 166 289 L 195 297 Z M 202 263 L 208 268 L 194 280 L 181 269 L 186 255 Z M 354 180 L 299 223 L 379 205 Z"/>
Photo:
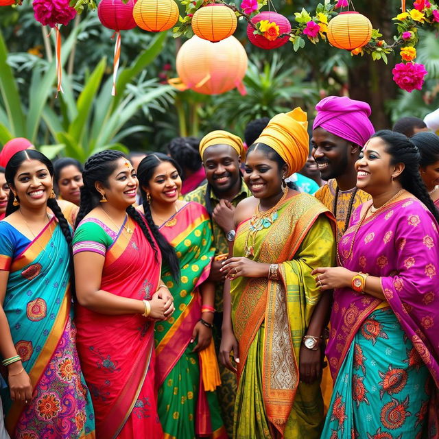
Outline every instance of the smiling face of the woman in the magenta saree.
<path id="1" fill-rule="evenodd" d="M 392 156 L 385 151 L 385 146 L 381 137 L 372 137 L 355 163 L 357 187 L 372 196 L 388 191 L 392 176 L 397 178 L 404 169 L 402 163 L 392 165 Z"/>

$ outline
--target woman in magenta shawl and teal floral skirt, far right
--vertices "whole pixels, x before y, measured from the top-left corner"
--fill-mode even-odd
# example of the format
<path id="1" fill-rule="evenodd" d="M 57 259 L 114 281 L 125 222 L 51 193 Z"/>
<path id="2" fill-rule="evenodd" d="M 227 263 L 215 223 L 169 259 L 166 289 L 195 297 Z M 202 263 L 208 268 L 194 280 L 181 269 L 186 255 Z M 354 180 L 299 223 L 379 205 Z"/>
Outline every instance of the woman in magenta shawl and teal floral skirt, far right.
<path id="1" fill-rule="evenodd" d="M 372 137 L 356 165 L 372 200 L 340 241 L 342 267 L 316 270 L 322 289 L 335 287 L 327 345 L 335 384 L 322 439 L 438 438 L 438 213 L 416 160 L 401 134 Z"/>

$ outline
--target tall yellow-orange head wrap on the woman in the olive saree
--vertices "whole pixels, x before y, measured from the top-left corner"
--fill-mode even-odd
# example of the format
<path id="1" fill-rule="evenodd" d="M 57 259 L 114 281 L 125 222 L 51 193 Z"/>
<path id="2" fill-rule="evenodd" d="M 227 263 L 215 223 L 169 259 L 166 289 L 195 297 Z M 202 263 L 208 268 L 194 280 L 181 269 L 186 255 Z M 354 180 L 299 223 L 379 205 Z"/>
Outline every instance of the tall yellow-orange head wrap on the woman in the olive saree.
<path id="1" fill-rule="evenodd" d="M 287 163 L 288 175 L 302 169 L 309 153 L 307 113 L 297 107 L 281 112 L 268 122 L 261 136 L 254 143 L 265 143 L 273 148 Z"/>

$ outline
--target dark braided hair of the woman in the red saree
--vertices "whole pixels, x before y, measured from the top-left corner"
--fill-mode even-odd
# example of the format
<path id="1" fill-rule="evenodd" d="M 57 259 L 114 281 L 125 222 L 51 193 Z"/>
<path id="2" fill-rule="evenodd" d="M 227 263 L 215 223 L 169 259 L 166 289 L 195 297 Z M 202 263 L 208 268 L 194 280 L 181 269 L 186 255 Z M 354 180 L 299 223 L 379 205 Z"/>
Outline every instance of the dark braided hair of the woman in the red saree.
<path id="1" fill-rule="evenodd" d="M 108 187 L 108 177 L 115 171 L 117 161 L 122 157 L 125 157 L 125 155 L 120 151 L 106 150 L 97 152 L 97 154 L 94 154 L 88 158 L 82 173 L 84 186 L 81 188 L 81 204 L 78 216 L 76 217 L 75 227 L 78 227 L 78 224 L 80 224 L 82 219 L 84 219 L 85 215 L 87 215 L 87 213 L 89 213 L 92 209 L 95 209 L 95 207 L 99 204 L 101 194 L 99 191 L 97 191 L 95 182 L 101 182 L 104 187 Z M 156 243 L 154 242 L 154 239 L 152 239 L 150 229 L 147 228 L 142 216 L 136 209 L 134 209 L 133 206 L 128 206 L 126 213 L 128 213 L 128 215 L 130 215 L 130 217 L 137 222 L 143 232 L 143 235 L 145 235 L 146 239 L 151 244 L 155 252 L 156 261 L 158 261 L 158 250 L 160 250 L 163 254 L 161 243 L 158 241 L 158 239 L 156 239 L 158 244 L 157 249 Z M 152 224 L 154 225 L 154 222 Z M 149 221 L 148 225 L 150 226 L 151 230 L 153 230 Z M 165 254 L 163 254 L 163 259 L 165 262 L 167 262 Z"/>

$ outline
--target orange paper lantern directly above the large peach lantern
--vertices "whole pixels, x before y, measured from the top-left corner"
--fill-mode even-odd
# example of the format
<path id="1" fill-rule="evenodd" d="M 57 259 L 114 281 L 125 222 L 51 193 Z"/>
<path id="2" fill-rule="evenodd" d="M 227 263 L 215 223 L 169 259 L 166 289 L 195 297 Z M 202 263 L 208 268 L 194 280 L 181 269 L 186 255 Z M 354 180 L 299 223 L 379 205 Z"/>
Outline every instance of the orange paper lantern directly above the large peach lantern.
<path id="1" fill-rule="evenodd" d="M 235 12 L 219 3 L 209 3 L 192 17 L 192 30 L 203 40 L 224 40 L 235 32 L 238 21 Z"/>

